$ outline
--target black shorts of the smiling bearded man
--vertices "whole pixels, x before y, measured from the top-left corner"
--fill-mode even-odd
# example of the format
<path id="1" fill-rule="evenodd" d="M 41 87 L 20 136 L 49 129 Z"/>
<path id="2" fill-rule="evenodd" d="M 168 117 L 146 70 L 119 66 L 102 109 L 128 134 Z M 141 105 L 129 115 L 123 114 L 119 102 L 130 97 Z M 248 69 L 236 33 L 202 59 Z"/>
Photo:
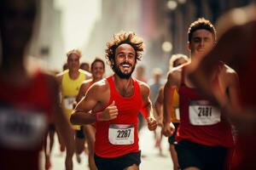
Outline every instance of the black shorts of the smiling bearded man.
<path id="1" fill-rule="evenodd" d="M 98 170 L 123 170 L 126 167 L 131 167 L 133 164 L 140 165 L 141 151 L 114 158 L 100 157 L 95 154 L 94 160 Z"/>

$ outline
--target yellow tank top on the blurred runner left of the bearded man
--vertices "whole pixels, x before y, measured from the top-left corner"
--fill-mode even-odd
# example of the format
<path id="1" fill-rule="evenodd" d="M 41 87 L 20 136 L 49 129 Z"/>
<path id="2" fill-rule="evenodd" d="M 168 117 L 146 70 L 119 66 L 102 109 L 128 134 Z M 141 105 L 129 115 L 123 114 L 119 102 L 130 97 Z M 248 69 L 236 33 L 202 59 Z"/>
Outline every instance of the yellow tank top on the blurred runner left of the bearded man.
<path id="1" fill-rule="evenodd" d="M 79 88 L 85 80 L 85 71 L 79 69 L 79 77 L 75 80 L 68 75 L 68 70 L 64 71 L 61 80 L 61 106 L 67 116 L 69 122 L 73 111 L 73 103 L 76 101 L 76 96 L 79 94 Z M 79 130 L 79 126 L 73 126 L 73 129 Z"/>

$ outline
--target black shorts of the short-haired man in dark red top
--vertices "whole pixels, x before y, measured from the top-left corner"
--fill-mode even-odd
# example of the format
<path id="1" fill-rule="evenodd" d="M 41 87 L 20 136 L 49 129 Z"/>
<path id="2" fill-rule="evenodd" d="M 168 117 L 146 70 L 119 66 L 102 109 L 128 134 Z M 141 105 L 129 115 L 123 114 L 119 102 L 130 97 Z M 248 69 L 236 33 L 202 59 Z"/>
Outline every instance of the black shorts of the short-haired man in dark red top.
<path id="1" fill-rule="evenodd" d="M 196 144 L 183 139 L 175 144 L 175 149 L 181 169 L 198 167 L 201 170 L 221 170 L 226 167 L 227 148 Z"/>

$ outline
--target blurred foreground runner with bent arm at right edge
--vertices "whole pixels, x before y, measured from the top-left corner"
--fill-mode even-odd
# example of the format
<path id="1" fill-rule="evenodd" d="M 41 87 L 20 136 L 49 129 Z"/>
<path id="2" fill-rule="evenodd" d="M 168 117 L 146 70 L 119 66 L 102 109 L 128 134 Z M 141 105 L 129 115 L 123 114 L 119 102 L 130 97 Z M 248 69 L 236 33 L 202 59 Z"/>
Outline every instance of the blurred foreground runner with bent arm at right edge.
<path id="1" fill-rule="evenodd" d="M 201 86 L 204 93 L 212 96 L 226 110 L 231 122 L 234 123 L 237 133 L 237 142 L 232 156 L 230 169 L 256 169 L 256 91 L 255 62 L 256 62 L 256 4 L 239 8 L 245 14 L 243 20 L 238 20 L 236 10 L 231 10 L 220 19 L 225 29 L 223 37 L 207 56 L 201 60 L 200 65 L 193 72 L 195 82 Z M 238 22 L 237 22 L 238 21 Z M 243 21 L 243 23 L 241 23 Z M 239 25 L 237 25 L 237 23 Z M 220 25 L 222 26 L 222 25 Z M 235 96 L 239 104 L 234 105 L 223 95 L 212 93 L 212 85 L 208 80 L 218 60 L 235 64 L 238 73 L 240 93 Z"/>

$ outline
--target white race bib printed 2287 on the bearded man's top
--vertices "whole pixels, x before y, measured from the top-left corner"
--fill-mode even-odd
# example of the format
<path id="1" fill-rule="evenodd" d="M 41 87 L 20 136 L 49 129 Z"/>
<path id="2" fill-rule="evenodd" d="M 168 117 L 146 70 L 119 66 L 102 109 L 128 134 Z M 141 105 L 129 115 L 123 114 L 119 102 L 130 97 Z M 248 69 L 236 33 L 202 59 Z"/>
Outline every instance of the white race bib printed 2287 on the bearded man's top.
<path id="1" fill-rule="evenodd" d="M 110 144 L 134 144 L 134 126 L 111 124 L 108 128 Z"/>

